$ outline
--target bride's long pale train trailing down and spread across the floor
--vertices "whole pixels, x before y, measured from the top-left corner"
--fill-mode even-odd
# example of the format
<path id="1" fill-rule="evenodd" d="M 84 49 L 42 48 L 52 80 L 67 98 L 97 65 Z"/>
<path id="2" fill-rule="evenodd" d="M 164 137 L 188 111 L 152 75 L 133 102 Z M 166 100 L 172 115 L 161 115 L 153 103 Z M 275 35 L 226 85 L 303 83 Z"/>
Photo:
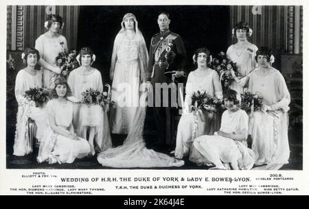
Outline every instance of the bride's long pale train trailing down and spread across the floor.
<path id="1" fill-rule="evenodd" d="M 132 129 L 124 140 L 124 144 L 98 154 L 98 162 L 102 166 L 115 168 L 181 167 L 185 163 L 183 160 L 176 160 L 164 153 L 146 148 L 143 138 L 146 94 L 147 92 L 141 94 L 139 108 L 137 108 L 135 118 L 133 119 Z"/>

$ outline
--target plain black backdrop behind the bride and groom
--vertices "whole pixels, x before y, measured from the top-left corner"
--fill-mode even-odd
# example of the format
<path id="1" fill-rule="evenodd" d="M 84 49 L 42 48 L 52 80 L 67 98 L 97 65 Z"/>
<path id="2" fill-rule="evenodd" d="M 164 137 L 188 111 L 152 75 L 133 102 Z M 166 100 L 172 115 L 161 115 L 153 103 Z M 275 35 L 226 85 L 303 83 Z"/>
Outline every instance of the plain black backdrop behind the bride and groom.
<path id="1" fill-rule="evenodd" d="M 115 36 L 126 13 L 135 14 L 147 48 L 150 39 L 159 32 L 160 12 L 170 14 L 170 30 L 183 38 L 187 51 L 187 70 L 192 71 L 192 56 L 198 47 L 207 47 L 212 54 L 226 51 L 229 31 L 229 6 L 209 5 L 139 5 L 139 6 L 80 6 L 77 49 L 91 47 L 97 60 L 93 64 L 110 82 L 109 68 Z"/>

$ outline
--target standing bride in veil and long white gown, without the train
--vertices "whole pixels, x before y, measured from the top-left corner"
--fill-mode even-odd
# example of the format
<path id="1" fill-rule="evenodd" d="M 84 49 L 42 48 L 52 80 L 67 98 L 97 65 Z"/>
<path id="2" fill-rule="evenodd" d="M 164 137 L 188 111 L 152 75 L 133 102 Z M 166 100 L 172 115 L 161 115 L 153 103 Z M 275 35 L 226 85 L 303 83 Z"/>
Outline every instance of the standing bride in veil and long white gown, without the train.
<path id="1" fill-rule="evenodd" d="M 127 13 L 122 19 L 122 29 L 113 47 L 110 77 L 113 80 L 111 100 L 111 132 L 128 134 L 139 106 L 139 85 L 146 82 L 148 51 L 144 36 L 137 27 L 134 14 Z"/>

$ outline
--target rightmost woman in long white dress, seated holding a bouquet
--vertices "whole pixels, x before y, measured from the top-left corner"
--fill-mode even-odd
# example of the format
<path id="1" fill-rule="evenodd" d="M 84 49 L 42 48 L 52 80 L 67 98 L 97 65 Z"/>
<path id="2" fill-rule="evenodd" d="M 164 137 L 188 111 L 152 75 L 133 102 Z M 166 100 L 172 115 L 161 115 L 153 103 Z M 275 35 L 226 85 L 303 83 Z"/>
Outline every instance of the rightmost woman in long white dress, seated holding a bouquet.
<path id="1" fill-rule="evenodd" d="M 275 58 L 271 49 L 261 47 L 256 59 L 259 67 L 249 80 L 249 91 L 264 98 L 264 110 L 273 110 L 277 117 L 266 112 L 254 112 L 249 120 L 252 149 L 258 156 L 255 164 L 267 164 L 257 169 L 279 169 L 288 163 L 288 105 L 290 93 L 282 74 L 271 66 Z"/>

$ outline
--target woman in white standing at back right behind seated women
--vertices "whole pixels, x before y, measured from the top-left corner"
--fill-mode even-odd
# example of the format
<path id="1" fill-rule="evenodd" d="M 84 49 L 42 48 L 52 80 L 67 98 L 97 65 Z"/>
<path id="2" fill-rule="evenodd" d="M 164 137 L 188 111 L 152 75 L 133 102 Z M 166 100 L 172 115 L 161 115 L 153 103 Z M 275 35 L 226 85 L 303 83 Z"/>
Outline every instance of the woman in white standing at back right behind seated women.
<path id="1" fill-rule="evenodd" d="M 255 69 L 255 53 L 258 51 L 258 47 L 253 45 L 247 39 L 252 35 L 252 29 L 248 23 L 239 22 L 232 29 L 232 37 L 237 38 L 235 45 L 231 45 L 227 49 L 227 58 L 236 62 L 238 71 L 242 74 L 242 77 L 236 77 L 232 70 L 234 78 L 230 88 L 236 90 L 238 93 L 243 93 L 243 87 L 247 84 L 251 71 Z"/>

